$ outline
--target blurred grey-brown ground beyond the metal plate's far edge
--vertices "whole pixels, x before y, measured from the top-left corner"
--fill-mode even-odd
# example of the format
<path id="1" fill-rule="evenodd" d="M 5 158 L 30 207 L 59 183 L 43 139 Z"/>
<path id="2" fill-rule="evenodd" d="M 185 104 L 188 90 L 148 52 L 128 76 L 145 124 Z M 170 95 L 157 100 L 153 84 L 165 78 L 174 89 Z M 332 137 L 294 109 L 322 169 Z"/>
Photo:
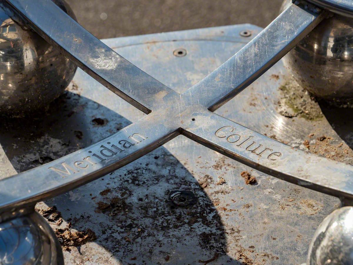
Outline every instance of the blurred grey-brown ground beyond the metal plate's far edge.
<path id="1" fill-rule="evenodd" d="M 266 27 L 282 0 L 66 0 L 96 37 L 251 23 Z"/>

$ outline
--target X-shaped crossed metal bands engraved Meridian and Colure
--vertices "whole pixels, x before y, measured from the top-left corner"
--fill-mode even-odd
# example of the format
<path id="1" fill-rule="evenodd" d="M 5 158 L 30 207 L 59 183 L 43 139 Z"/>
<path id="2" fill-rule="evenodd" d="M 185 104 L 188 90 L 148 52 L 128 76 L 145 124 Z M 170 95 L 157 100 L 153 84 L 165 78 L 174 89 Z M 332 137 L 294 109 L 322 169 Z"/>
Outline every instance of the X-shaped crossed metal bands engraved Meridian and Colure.
<path id="1" fill-rule="evenodd" d="M 3 179 L 0 182 L 0 187 L 11 188 L 7 188 L 2 193 L 2 211 L 12 207 L 23 207 L 82 185 L 130 163 L 180 133 L 192 139 L 197 139 L 206 146 L 216 146 L 216 142 L 219 140 L 217 139 L 217 132 L 226 126 L 224 125 L 225 121 L 217 122 L 217 116 L 208 112 L 206 108 L 214 111 L 229 101 L 279 60 L 323 18 L 323 14 L 320 12 L 311 13 L 292 4 L 240 52 L 195 86 L 179 94 L 156 81 L 95 39 L 51 1 L 42 0 L 43 8 L 49 10 L 45 16 L 37 16 L 38 11 L 31 7 L 30 1 L 11 0 L 9 2 L 31 20 L 34 29 L 42 33 L 44 37 L 51 39 L 53 43 L 57 43 L 68 57 L 83 67 L 84 71 L 134 106 L 140 107 L 147 113 L 151 111 L 149 110 L 151 107 L 154 111 L 149 116 L 90 147 L 49 162 L 35 170 Z M 52 16 L 52 13 L 58 13 L 58 17 Z M 60 25 L 59 29 L 56 30 L 56 27 L 53 28 L 51 24 L 48 26 L 44 23 L 46 19 L 50 19 L 53 25 Z M 63 29 L 66 28 L 66 24 L 70 26 L 70 34 L 73 33 L 74 36 L 63 39 L 62 36 L 65 35 Z M 270 39 L 269 36 L 271 36 Z M 78 52 L 78 47 L 73 47 L 77 40 L 82 38 L 87 41 L 80 44 L 85 53 Z M 92 46 L 91 42 L 100 45 L 98 47 L 102 48 Z M 92 57 L 87 55 L 91 51 L 93 53 Z M 99 54 L 96 54 L 97 52 Z M 107 59 L 110 63 L 104 59 L 104 54 L 110 54 L 109 58 L 116 59 L 114 59 L 116 63 L 114 67 L 110 66 L 110 59 Z M 104 59 L 105 63 L 109 63 L 107 67 L 106 65 L 102 67 L 101 64 L 92 63 L 92 61 L 96 61 L 98 55 Z M 116 76 L 117 73 L 114 72 L 118 68 L 122 71 L 120 75 L 122 76 L 121 83 L 116 81 L 119 78 Z M 130 75 L 131 73 L 132 75 Z M 147 86 L 146 89 L 144 88 L 145 85 Z M 142 103 L 137 101 L 142 101 Z M 198 123 L 192 117 L 195 114 L 209 117 Z M 205 132 L 204 128 L 210 123 L 213 126 L 212 129 L 216 129 L 216 131 Z M 197 128 L 195 124 L 197 124 Z M 149 128 L 153 128 L 153 131 Z M 198 129 L 202 134 L 194 134 L 190 128 Z M 216 138 L 211 139 L 208 134 L 215 134 Z M 241 140 L 240 137 L 242 136 L 238 136 L 238 140 Z M 249 135 L 248 137 L 253 136 Z M 265 148 L 265 152 L 270 152 L 267 154 L 267 159 L 262 157 L 264 151 L 259 150 L 260 153 L 257 153 L 257 149 L 251 150 L 249 153 L 243 153 L 240 150 L 237 152 L 234 149 L 234 141 L 230 142 L 228 138 L 223 143 L 223 147 L 225 150 L 232 150 L 227 152 L 228 156 L 247 161 L 248 165 L 287 181 L 305 185 L 308 188 L 334 196 L 346 198 L 353 196 L 352 183 L 349 178 L 353 167 L 342 163 L 329 163 L 325 159 L 310 154 L 293 153 L 292 147 L 281 145 L 265 136 L 258 135 L 258 137 L 263 137 L 263 141 L 270 143 L 267 144 L 268 147 L 260 145 Z M 261 142 L 261 139 L 257 141 Z M 256 142 L 253 143 L 256 144 Z M 246 151 L 249 151 L 249 147 L 245 148 Z M 281 152 L 274 151 L 275 149 L 281 150 Z M 220 150 L 220 148 L 215 148 L 215 150 Z M 248 155 L 250 155 L 250 159 Z M 310 164 L 306 167 L 307 170 L 301 168 L 298 170 L 298 166 L 295 164 L 290 166 L 290 161 L 298 155 L 303 156 L 306 163 Z M 249 161 L 252 161 L 252 163 L 249 163 Z M 318 171 L 317 168 L 322 168 L 322 171 Z M 323 177 L 322 172 L 329 176 L 336 172 L 340 174 L 335 181 L 328 183 L 328 178 Z M 49 178 L 48 174 L 50 175 Z M 32 182 L 34 176 L 37 179 L 36 183 Z"/>

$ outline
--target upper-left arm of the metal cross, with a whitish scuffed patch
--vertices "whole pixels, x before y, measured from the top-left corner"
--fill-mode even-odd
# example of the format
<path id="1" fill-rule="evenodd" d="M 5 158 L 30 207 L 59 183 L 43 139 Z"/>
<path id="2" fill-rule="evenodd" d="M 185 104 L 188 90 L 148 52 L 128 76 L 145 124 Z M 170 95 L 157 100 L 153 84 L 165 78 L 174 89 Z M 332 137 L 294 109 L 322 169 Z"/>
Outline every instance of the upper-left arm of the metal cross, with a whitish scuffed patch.
<path id="1" fill-rule="evenodd" d="M 51 0 L 5 2 L 46 41 L 139 110 L 150 113 L 158 108 L 163 96 L 175 93 L 110 49 Z"/>

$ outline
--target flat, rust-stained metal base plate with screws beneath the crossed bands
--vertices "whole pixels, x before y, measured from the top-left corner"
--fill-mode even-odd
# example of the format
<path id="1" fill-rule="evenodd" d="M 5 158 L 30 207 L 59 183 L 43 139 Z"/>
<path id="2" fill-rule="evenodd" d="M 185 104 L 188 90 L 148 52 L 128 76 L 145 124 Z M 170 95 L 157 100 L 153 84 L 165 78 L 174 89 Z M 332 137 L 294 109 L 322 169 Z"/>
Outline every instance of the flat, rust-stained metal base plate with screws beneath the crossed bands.
<path id="1" fill-rule="evenodd" d="M 240 31 L 251 30 L 251 37 Z M 183 92 L 221 65 L 261 29 L 253 25 L 178 31 L 106 40 L 109 47 L 152 77 Z M 175 57 L 184 48 L 185 57 Z M 349 149 L 344 123 L 279 114 L 280 88 L 290 78 L 282 63 L 216 113 L 305 149 L 308 134 L 332 137 Z M 239 100 L 240 99 L 240 100 Z M 35 118 L 3 120 L 0 173 L 13 175 L 115 133 L 145 114 L 78 70 L 68 91 Z M 335 128 L 333 130 L 332 128 Z M 316 136 L 310 140 L 314 145 Z M 350 149 L 349 149 L 350 150 Z M 351 163 L 351 159 L 343 157 Z M 249 171 L 256 185 L 240 176 Z M 217 185 L 221 178 L 225 183 Z M 33 180 L 35 181 L 35 179 Z M 201 184 L 201 185 L 200 185 Z M 202 187 L 201 187 L 202 186 Z M 100 194 L 107 188 L 110 192 Z M 197 203 L 173 207 L 172 190 L 189 190 Z M 118 198 L 119 209 L 99 202 Z M 92 229 L 97 240 L 64 251 L 67 264 L 301 264 L 317 225 L 339 200 L 281 181 L 228 159 L 184 136 L 83 187 L 37 204 L 55 205 L 65 227 Z M 58 228 L 54 223 L 53 229 Z M 251 247 L 250 247 L 251 246 Z M 249 248 L 250 247 L 250 248 Z"/>

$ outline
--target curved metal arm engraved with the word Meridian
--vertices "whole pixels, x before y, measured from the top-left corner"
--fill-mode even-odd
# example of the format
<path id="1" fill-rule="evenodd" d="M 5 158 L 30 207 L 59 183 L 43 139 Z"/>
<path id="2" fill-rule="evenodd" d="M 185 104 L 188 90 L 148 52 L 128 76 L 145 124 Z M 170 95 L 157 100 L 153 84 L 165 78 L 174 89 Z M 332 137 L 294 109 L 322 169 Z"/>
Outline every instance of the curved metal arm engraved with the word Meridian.
<path id="1" fill-rule="evenodd" d="M 149 114 L 89 147 L 1 179 L 0 213 L 77 188 L 151 152 L 179 131 Z M 148 128 L 147 125 L 150 125 Z"/>

